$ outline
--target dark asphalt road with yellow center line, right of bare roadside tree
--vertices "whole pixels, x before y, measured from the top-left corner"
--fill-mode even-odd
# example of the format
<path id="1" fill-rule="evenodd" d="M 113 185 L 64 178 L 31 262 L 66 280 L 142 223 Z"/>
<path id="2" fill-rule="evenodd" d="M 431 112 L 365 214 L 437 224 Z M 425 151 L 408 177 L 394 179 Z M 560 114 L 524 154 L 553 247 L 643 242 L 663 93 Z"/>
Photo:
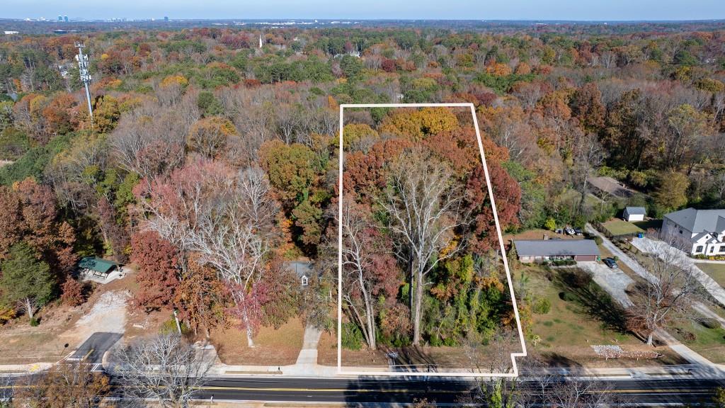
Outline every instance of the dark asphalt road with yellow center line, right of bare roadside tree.
<path id="1" fill-rule="evenodd" d="M 438 404 L 455 404 L 471 394 L 472 383 L 459 380 L 357 380 L 319 378 L 217 378 L 210 380 L 197 395 L 215 401 L 294 401 L 386 404 L 427 399 Z M 696 404 L 711 402 L 714 389 L 723 380 L 701 379 L 622 379 L 609 380 L 608 389 L 629 404 Z M 518 387 L 534 387 L 520 383 Z"/>

